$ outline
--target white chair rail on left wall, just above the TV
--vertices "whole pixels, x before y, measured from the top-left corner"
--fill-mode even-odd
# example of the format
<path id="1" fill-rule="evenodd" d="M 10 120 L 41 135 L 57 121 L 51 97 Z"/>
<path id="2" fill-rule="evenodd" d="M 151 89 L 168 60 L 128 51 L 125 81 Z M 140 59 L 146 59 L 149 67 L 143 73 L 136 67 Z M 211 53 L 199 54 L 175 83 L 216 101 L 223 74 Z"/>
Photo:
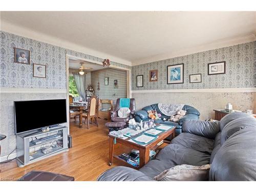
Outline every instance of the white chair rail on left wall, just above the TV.
<path id="1" fill-rule="evenodd" d="M 67 90 L 39 88 L 0 88 L 0 93 L 67 93 Z"/>

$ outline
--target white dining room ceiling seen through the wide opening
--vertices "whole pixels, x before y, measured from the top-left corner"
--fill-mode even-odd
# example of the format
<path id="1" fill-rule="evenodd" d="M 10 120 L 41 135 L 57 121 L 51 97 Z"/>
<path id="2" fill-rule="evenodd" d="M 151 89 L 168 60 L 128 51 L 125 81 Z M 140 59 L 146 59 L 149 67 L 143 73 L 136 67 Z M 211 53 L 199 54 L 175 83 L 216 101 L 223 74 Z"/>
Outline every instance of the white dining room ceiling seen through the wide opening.
<path id="1" fill-rule="evenodd" d="M 91 69 L 85 69 L 85 71 L 96 71 L 96 70 L 104 69 L 102 65 L 99 65 L 97 63 L 83 61 L 76 58 L 69 58 L 69 68 L 79 69 L 81 67 L 80 62 L 83 62 L 83 67 L 91 68 Z"/>

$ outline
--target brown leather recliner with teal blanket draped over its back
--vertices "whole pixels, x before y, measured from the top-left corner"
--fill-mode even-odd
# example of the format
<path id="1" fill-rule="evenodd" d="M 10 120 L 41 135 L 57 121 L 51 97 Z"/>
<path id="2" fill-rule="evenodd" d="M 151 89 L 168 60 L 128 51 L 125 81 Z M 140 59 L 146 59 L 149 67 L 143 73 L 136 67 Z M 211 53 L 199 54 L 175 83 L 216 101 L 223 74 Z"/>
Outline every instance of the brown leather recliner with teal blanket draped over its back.
<path id="1" fill-rule="evenodd" d="M 122 117 L 118 117 L 118 110 L 120 109 L 120 98 L 118 98 L 116 100 L 116 109 L 114 111 L 111 111 L 111 121 L 112 122 L 128 122 L 130 119 L 134 118 L 134 113 L 135 113 L 135 99 L 131 98 L 130 99 L 130 117 L 127 118 L 122 118 Z"/>

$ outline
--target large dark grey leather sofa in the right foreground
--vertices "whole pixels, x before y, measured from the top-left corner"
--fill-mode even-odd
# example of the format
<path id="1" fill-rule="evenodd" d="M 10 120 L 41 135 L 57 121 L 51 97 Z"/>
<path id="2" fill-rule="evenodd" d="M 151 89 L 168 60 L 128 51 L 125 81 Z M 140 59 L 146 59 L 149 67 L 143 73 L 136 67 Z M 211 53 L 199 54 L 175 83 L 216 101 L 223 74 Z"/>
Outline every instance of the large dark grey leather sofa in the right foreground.
<path id="1" fill-rule="evenodd" d="M 254 117 L 236 112 L 216 122 L 186 120 L 182 131 L 139 170 L 113 167 L 98 181 L 154 181 L 163 170 L 181 164 L 211 164 L 210 181 L 256 180 Z"/>

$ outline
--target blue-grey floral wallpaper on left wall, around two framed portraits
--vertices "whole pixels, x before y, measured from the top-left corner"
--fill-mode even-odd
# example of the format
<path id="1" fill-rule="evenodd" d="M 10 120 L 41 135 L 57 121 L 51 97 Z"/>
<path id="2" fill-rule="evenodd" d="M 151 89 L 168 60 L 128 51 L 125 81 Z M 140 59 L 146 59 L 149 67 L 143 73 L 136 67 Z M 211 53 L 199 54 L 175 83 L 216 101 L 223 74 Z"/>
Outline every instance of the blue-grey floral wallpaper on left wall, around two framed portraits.
<path id="1" fill-rule="evenodd" d="M 66 54 L 92 61 L 102 62 L 102 58 L 46 44 L 30 38 L 4 31 L 1 34 L 1 83 L 3 88 L 49 88 L 66 89 Z M 30 65 L 14 62 L 14 47 L 30 50 Z M 33 63 L 46 65 L 46 78 L 33 77 Z M 113 66 L 131 69 L 130 66 L 111 62 Z"/>

